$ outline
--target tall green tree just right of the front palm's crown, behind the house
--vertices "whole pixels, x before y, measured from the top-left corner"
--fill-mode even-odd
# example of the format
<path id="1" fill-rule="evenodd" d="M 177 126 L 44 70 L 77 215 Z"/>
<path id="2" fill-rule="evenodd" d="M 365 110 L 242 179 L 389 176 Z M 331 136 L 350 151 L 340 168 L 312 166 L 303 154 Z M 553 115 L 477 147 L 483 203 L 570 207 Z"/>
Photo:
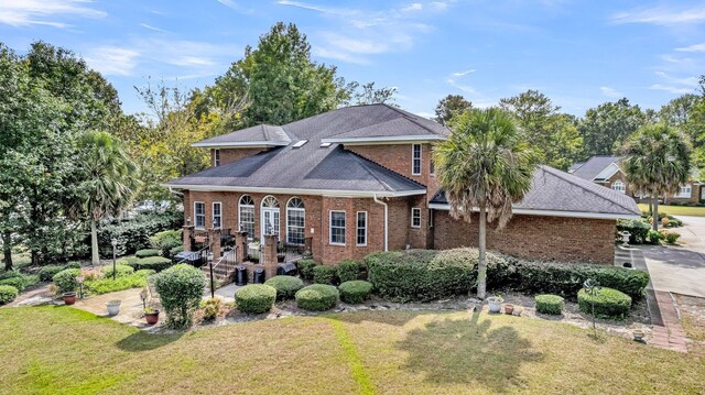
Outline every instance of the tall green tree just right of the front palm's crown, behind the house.
<path id="1" fill-rule="evenodd" d="M 517 117 L 520 133 L 540 163 L 565 171 L 582 157 L 583 138 L 575 119 L 561 113 L 547 96 L 528 90 L 501 99 L 499 107 Z"/>

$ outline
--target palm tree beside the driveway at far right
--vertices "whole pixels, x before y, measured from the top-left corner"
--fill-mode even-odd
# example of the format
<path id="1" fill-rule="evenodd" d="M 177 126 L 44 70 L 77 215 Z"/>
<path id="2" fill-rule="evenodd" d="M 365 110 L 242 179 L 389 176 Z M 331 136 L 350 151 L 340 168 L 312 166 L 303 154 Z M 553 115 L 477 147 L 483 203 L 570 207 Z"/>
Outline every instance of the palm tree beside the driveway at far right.
<path id="1" fill-rule="evenodd" d="M 627 182 L 653 201 L 652 228 L 659 230 L 659 196 L 675 194 L 691 175 L 691 144 L 664 123 L 641 127 L 622 147 Z"/>

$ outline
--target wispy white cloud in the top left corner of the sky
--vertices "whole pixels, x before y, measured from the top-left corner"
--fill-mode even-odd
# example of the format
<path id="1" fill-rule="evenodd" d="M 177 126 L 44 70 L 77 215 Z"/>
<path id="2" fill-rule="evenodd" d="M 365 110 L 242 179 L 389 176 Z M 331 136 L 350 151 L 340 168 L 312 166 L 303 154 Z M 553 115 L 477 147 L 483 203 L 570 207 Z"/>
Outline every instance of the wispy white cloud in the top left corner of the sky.
<path id="1" fill-rule="evenodd" d="M 80 18 L 105 18 L 107 13 L 86 4 L 88 0 L 3 0 L 0 1 L 0 23 L 12 26 L 48 25 L 68 28 L 57 21 L 59 15 Z"/>

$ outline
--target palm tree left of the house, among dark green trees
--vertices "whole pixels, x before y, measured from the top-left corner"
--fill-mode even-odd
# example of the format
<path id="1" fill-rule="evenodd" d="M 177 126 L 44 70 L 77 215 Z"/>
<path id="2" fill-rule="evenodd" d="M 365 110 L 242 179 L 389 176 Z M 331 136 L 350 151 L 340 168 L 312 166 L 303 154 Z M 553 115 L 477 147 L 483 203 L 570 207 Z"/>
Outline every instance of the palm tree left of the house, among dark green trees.
<path id="1" fill-rule="evenodd" d="M 132 202 L 137 166 L 117 138 L 106 132 L 86 132 L 78 147 L 83 180 L 79 210 L 90 219 L 90 262 L 98 264 L 97 223 L 106 216 L 118 216 Z"/>

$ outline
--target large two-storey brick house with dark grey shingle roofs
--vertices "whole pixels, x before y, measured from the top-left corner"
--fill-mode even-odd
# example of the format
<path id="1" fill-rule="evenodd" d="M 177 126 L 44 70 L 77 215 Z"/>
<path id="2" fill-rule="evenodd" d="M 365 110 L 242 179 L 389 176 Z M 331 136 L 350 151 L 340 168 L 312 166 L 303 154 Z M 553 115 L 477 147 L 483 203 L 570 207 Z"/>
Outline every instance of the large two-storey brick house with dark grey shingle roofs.
<path id="1" fill-rule="evenodd" d="M 246 231 L 310 245 L 334 264 L 373 251 L 477 244 L 477 221 L 448 215 L 431 161 L 449 131 L 386 105 L 347 107 L 281 127 L 207 139 L 214 167 L 166 184 L 184 194 L 197 229 Z M 612 263 L 617 218 L 637 218 L 623 194 L 540 166 L 491 249 L 530 259 Z M 491 226 L 494 228 L 494 224 Z"/>

